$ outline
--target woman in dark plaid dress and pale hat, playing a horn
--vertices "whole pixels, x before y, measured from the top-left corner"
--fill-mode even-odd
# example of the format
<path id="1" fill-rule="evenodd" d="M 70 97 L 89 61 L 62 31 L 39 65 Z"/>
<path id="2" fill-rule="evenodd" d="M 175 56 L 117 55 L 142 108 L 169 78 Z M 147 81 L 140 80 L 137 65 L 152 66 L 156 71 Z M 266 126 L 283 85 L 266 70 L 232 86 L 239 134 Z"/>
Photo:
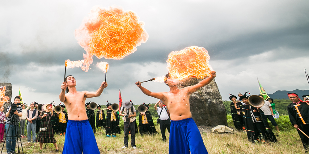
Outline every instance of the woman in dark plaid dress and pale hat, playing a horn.
<path id="1" fill-rule="evenodd" d="M 50 107 L 50 105 L 47 105 L 46 110 L 42 111 L 39 116 L 39 119 L 41 119 L 40 129 L 47 128 L 46 131 L 40 130 L 38 133 L 38 137 L 36 138 L 36 142 L 40 143 L 40 151 L 42 151 L 43 143 L 53 143 L 56 148 L 56 152 L 59 151 L 57 147 L 57 141 L 54 138 L 52 124 L 50 122 L 51 116 L 54 116 L 53 108 Z"/>

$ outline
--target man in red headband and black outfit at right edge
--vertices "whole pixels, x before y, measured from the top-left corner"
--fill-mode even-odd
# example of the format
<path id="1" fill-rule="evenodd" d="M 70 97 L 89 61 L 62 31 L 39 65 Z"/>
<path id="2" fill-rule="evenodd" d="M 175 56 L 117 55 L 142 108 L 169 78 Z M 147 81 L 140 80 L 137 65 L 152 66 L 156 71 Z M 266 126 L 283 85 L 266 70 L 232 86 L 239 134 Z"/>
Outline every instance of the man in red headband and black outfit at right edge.
<path id="1" fill-rule="evenodd" d="M 288 93 L 289 99 L 292 101 L 288 105 L 288 113 L 291 124 L 297 129 L 303 146 L 308 152 L 309 138 L 309 105 L 298 98 L 296 93 Z M 303 132 L 301 132 L 303 131 Z M 305 135 L 306 134 L 306 135 Z"/>

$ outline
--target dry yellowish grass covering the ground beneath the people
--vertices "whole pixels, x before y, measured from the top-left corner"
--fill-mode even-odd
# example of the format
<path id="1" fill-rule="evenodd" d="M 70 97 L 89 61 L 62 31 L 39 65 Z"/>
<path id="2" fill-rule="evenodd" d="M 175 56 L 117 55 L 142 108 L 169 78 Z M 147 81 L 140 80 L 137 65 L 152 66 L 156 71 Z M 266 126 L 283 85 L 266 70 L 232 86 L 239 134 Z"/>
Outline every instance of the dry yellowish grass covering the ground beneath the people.
<path id="1" fill-rule="evenodd" d="M 159 126 L 156 126 L 157 131 L 160 130 Z M 168 132 L 166 133 L 169 137 Z M 207 151 L 211 154 L 301 154 L 304 153 L 304 148 L 298 136 L 296 130 L 280 132 L 277 137 L 277 143 L 256 143 L 252 144 L 247 139 L 247 134 L 238 132 L 236 134 L 215 134 L 215 133 L 203 133 L 202 138 L 204 140 Z M 105 130 L 97 130 L 95 135 L 98 147 L 101 153 L 130 153 L 130 154 L 164 154 L 168 153 L 168 139 L 166 142 L 162 141 L 161 134 L 155 136 L 141 136 L 136 134 L 135 144 L 138 149 L 126 148 L 121 149 L 123 144 L 124 134 L 117 134 L 116 138 L 106 138 Z M 57 144 L 61 153 L 64 144 L 64 136 L 55 135 Z M 27 139 L 22 138 L 23 149 L 25 153 L 38 153 L 39 145 L 27 144 Z M 129 146 L 131 144 L 131 138 L 129 137 Z M 73 148 L 73 147 L 72 147 Z M 5 147 L 4 147 L 5 150 Z M 21 148 L 20 148 L 21 151 Z M 55 148 L 53 144 L 43 144 L 43 153 L 53 153 Z M 4 151 L 5 152 L 5 151 Z M 16 150 L 17 152 L 17 150 Z"/>

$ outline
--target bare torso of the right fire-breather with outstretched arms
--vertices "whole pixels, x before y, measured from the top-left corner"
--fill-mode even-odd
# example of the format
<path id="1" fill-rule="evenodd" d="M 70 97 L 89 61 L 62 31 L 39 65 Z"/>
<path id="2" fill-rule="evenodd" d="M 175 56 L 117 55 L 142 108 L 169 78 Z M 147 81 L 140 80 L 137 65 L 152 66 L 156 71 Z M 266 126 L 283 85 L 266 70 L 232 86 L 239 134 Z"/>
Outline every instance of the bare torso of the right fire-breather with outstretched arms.
<path id="1" fill-rule="evenodd" d="M 183 120 L 191 118 L 190 102 L 187 88 L 179 89 L 177 92 L 162 92 L 166 98 L 164 104 L 168 107 L 171 120 Z"/>

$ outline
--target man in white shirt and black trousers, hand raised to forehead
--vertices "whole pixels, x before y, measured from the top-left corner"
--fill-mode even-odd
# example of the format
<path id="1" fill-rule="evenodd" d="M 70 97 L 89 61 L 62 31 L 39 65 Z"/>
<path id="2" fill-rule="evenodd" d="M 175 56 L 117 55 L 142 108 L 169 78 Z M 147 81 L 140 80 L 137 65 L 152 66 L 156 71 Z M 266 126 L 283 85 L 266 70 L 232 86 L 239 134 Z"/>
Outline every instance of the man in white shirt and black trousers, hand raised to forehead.
<path id="1" fill-rule="evenodd" d="M 157 107 L 158 104 L 159 104 L 159 108 Z M 167 131 L 170 132 L 171 119 L 168 116 L 167 107 L 163 105 L 164 103 L 162 102 L 162 100 L 159 100 L 155 104 L 155 110 L 158 112 L 158 115 L 159 115 L 159 121 L 160 121 L 159 124 L 160 124 L 160 130 L 162 134 L 162 140 L 166 141 L 165 128 L 167 128 Z"/>

